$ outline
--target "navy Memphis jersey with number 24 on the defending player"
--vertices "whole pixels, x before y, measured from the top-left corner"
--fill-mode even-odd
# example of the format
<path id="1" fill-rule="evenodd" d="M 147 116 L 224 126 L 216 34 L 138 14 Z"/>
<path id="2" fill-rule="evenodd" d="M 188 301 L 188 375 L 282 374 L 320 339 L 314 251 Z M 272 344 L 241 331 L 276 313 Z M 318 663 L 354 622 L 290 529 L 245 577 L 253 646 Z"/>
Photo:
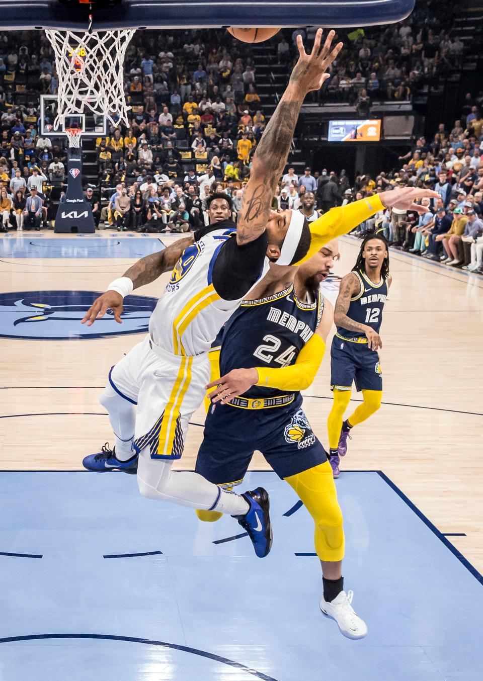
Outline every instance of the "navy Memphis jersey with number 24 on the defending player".
<path id="1" fill-rule="evenodd" d="M 232 369 L 295 364 L 298 353 L 319 326 L 324 310 L 320 294 L 313 303 L 298 302 L 293 284 L 261 300 L 244 300 L 228 319 L 213 348 L 221 343 L 220 375 Z M 276 388 L 253 385 L 243 397 L 276 397 Z"/>

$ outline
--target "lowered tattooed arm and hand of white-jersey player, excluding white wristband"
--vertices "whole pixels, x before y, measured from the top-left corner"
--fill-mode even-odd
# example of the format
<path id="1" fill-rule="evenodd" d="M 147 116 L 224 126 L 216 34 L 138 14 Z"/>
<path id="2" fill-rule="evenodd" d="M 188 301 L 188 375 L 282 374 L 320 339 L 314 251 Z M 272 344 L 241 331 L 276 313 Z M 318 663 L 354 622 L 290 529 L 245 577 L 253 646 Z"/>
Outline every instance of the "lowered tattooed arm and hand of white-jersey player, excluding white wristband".
<path id="1" fill-rule="evenodd" d="M 163 251 L 142 257 L 129 270 L 124 272 L 123 276 L 131 279 L 135 289 L 145 284 L 150 284 L 163 272 L 170 272 L 176 262 L 178 262 L 178 259 L 180 259 L 185 248 L 192 243 L 192 236 L 179 239 Z M 96 298 L 81 323 L 84 324 L 87 321 L 87 326 L 92 326 L 95 320 L 104 317 L 109 309 L 112 310 L 114 319 L 122 324 L 123 296 L 117 291 L 106 291 L 105 294 Z"/>

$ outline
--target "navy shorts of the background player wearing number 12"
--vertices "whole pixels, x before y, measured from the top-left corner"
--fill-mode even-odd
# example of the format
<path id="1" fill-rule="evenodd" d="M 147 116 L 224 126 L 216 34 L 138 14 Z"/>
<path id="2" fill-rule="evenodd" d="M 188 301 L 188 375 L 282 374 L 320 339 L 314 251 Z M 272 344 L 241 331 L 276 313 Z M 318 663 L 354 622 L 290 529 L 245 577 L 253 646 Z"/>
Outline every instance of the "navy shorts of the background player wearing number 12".
<path id="1" fill-rule="evenodd" d="M 330 389 L 382 390 L 379 355 L 367 343 L 353 343 L 334 336 L 330 348 Z"/>

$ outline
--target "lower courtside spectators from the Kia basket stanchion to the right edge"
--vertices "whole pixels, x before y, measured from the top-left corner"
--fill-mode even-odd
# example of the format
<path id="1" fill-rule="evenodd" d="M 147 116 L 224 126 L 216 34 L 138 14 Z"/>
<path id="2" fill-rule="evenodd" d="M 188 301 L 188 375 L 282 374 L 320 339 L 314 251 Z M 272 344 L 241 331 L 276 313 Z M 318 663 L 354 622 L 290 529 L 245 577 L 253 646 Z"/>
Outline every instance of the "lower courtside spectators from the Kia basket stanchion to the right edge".
<path id="1" fill-rule="evenodd" d="M 272 208 L 301 210 L 310 222 L 335 206 L 393 187 L 434 189 L 440 198 L 423 200 L 428 208 L 424 214 L 382 210 L 352 234 L 362 238 L 370 230 L 383 232 L 394 249 L 483 274 L 482 105 L 483 97 L 475 101 L 468 94 L 461 118 L 451 131 L 440 123 L 431 142 L 419 138 L 400 157 L 399 170 L 381 172 L 374 179 L 359 172 L 351 183 L 345 171 L 339 175 L 326 169 L 312 172 L 307 166 L 298 176 L 294 168 L 288 168 Z M 130 186 L 121 181 L 104 208 L 104 219 L 108 225 L 116 221 L 118 229 L 129 225 L 144 231 L 185 232 L 206 224 L 205 211 L 213 192 L 223 192 L 232 201 L 236 220 L 246 180 L 227 177 L 228 160 L 220 163 L 217 156 L 213 159 L 219 165 L 218 176 L 210 162 L 206 172 L 197 174 L 190 169 L 183 179 L 170 180 L 167 174 L 158 173 L 142 174 Z M 249 168 L 249 163 L 244 167 Z M 143 210 L 147 221 L 141 217 Z"/>

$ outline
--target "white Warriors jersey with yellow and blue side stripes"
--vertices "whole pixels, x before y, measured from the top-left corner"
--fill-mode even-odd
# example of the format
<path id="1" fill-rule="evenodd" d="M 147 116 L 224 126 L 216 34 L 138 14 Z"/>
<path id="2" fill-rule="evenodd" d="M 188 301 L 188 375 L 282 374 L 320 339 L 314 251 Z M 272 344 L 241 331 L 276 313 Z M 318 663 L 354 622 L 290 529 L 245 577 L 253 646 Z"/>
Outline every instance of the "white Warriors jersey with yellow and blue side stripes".
<path id="1" fill-rule="evenodd" d="M 174 355 L 208 352 L 225 321 L 243 300 L 223 300 L 213 286 L 215 260 L 223 244 L 235 233 L 236 229 L 226 226 L 214 229 L 183 251 L 166 293 L 159 298 L 149 321 L 149 332 L 156 345 Z M 258 280 L 268 268 L 265 258 Z"/>

